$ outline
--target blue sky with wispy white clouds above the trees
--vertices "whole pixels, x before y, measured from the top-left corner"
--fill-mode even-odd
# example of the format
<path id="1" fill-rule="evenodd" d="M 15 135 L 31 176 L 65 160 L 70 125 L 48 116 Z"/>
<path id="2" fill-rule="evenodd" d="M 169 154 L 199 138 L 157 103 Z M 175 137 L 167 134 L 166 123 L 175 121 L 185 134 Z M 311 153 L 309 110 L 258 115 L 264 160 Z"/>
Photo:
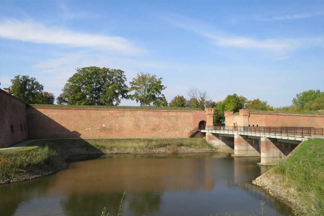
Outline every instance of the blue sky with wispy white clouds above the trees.
<path id="1" fill-rule="evenodd" d="M 197 88 L 289 106 L 324 91 L 324 1 L 0 0 L 0 88 L 29 75 L 57 97 L 89 66 L 162 77 L 168 102 Z"/>

